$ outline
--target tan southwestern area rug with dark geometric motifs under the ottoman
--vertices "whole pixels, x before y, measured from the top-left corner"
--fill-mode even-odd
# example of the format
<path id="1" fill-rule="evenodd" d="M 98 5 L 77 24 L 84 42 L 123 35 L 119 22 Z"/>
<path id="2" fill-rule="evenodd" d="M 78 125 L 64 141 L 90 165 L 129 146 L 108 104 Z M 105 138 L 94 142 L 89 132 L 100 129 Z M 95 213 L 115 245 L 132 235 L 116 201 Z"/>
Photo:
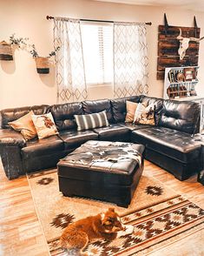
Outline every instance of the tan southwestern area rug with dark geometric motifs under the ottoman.
<path id="1" fill-rule="evenodd" d="M 88 246 L 95 256 L 145 255 L 203 228 L 204 211 L 156 179 L 142 175 L 128 208 L 102 201 L 65 198 L 58 189 L 56 170 L 28 176 L 36 212 L 51 255 L 64 253 L 59 237 L 69 223 L 115 207 L 123 224 L 135 226 L 131 235 Z"/>

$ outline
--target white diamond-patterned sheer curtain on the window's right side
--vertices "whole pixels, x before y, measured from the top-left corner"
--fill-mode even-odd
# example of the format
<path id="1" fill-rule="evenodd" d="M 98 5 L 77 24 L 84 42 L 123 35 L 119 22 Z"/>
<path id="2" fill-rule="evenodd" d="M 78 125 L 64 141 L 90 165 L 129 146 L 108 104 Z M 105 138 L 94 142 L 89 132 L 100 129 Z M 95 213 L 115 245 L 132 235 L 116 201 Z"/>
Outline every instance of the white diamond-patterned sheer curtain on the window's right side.
<path id="1" fill-rule="evenodd" d="M 115 97 L 148 94 L 146 25 L 114 23 Z"/>

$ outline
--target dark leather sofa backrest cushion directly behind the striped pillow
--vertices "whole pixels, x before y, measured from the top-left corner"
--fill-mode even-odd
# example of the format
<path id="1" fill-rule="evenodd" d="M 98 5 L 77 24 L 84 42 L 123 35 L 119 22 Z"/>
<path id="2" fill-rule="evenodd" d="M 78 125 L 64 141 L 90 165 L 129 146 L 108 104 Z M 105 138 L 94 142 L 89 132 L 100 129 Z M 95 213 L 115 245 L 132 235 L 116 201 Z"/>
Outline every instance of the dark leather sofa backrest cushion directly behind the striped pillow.
<path id="1" fill-rule="evenodd" d="M 114 121 L 109 99 L 86 100 L 82 102 L 82 108 L 85 114 L 106 111 L 109 123 L 113 123 Z"/>

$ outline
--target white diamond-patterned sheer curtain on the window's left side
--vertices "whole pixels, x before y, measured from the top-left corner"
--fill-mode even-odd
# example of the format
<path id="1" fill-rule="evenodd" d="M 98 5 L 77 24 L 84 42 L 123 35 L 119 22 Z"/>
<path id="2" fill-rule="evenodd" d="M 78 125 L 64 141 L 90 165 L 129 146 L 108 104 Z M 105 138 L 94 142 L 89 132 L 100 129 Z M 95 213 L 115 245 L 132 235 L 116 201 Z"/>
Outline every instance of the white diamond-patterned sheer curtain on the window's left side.
<path id="1" fill-rule="evenodd" d="M 87 98 L 80 21 L 63 17 L 54 19 L 57 102 L 82 101 Z"/>

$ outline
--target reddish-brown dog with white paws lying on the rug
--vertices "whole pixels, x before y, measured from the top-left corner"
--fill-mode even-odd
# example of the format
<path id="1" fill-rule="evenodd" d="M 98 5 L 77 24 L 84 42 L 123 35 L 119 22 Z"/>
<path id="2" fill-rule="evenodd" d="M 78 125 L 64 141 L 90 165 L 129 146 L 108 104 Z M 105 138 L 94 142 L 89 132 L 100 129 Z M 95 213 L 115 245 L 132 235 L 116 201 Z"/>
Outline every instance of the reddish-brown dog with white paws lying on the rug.
<path id="1" fill-rule="evenodd" d="M 114 208 L 107 212 L 79 219 L 69 224 L 60 238 L 61 246 L 68 250 L 76 249 L 80 255 L 93 255 L 83 253 L 90 241 L 95 239 L 112 240 L 132 233 L 134 226 L 122 225 L 119 215 Z"/>

